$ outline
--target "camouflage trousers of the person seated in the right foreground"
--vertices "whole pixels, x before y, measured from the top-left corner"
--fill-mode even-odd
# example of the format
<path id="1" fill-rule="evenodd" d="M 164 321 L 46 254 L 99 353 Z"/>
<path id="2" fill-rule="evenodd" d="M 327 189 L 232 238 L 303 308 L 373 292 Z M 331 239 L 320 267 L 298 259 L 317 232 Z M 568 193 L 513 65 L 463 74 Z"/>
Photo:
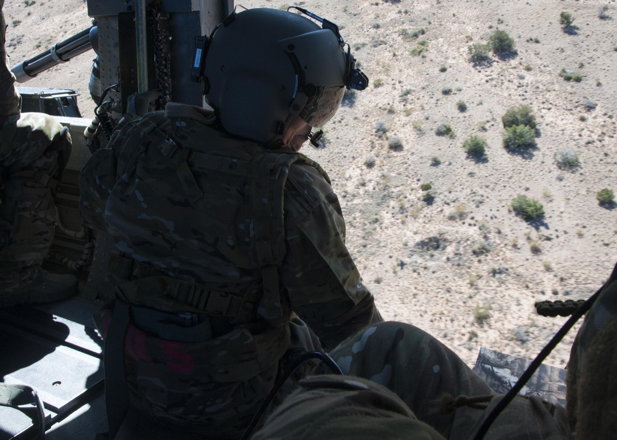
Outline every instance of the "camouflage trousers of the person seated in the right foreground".
<path id="1" fill-rule="evenodd" d="M 252 439 L 463 440 L 502 397 L 444 344 L 408 324 L 370 327 L 330 356 L 346 375 L 333 376 L 328 367 L 317 367 Z M 444 405 L 443 393 L 486 396 L 487 409 L 457 407 L 453 399 Z M 565 410 L 537 397 L 516 397 L 485 436 L 569 438 Z"/>

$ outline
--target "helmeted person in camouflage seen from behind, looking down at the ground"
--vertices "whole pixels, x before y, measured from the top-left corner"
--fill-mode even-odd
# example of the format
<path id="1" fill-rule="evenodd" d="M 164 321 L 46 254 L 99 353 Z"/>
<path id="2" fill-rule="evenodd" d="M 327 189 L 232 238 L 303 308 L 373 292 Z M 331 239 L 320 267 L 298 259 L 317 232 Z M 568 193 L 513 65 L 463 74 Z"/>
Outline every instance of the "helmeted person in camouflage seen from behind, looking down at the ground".
<path id="1" fill-rule="evenodd" d="M 126 116 L 80 174 L 83 218 L 117 250 L 117 301 L 95 317 L 112 438 L 239 438 L 293 359 L 382 321 L 328 175 L 297 153 L 366 77 L 337 30 L 276 9 L 233 18 L 204 55 L 212 108 Z"/>

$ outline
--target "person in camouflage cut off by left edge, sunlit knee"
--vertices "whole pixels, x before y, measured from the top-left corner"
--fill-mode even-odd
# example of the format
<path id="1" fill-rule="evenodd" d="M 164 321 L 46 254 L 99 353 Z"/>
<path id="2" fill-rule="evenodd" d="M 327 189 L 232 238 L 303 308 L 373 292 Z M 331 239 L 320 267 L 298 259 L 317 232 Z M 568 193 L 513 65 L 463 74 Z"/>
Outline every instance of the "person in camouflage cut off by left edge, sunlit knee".
<path id="1" fill-rule="evenodd" d="M 73 275 L 41 269 L 54 237 L 53 192 L 71 152 L 68 130 L 43 113 L 20 114 L 4 47 L 0 0 L 0 307 L 57 301 L 77 292 Z"/>

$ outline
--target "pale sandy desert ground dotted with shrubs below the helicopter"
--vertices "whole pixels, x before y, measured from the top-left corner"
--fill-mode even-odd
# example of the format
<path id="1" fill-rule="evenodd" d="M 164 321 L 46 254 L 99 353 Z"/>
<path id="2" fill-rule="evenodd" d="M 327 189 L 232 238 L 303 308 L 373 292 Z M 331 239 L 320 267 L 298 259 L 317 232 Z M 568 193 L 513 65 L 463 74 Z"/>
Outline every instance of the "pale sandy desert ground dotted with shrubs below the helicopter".
<path id="1" fill-rule="evenodd" d="M 303 151 L 331 176 L 347 245 L 383 316 L 432 333 L 470 365 L 480 346 L 536 356 L 565 319 L 537 316 L 534 303 L 587 298 L 617 260 L 615 204 L 596 199 L 598 190 L 617 190 L 617 3 L 297 4 L 341 26 L 371 79 L 326 124 L 321 147 Z M 566 29 L 562 11 L 574 18 Z M 13 63 L 90 23 L 82 0 L 7 0 L 5 14 Z M 468 46 L 497 30 L 516 50 L 470 62 Z M 25 85 L 73 88 L 89 117 L 93 57 Z M 581 81 L 566 81 L 562 69 Z M 513 152 L 502 145 L 501 117 L 518 105 L 536 115 L 537 146 Z M 437 136 L 442 123 L 454 136 Z M 483 157 L 466 155 L 471 135 L 486 139 Z M 558 166 L 555 155 L 564 150 L 578 166 Z M 421 189 L 427 183 L 429 195 Z M 542 203 L 544 217 L 525 221 L 513 212 L 518 195 Z M 575 334 L 547 363 L 566 365 Z"/>

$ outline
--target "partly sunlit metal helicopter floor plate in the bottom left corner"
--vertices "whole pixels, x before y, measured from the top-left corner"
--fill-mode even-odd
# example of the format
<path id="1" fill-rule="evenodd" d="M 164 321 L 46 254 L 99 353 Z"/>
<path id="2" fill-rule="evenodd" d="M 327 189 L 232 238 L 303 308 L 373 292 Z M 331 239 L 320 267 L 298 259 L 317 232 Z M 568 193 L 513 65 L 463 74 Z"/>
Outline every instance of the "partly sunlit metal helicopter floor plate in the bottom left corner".
<path id="1" fill-rule="evenodd" d="M 103 341 L 92 320 L 97 308 L 73 299 L 0 309 L 0 380 L 36 389 L 48 428 L 103 392 Z M 5 428 L 0 420 L 0 439 L 17 434 L 20 423 L 30 425 L 27 418 L 12 422 Z"/>

